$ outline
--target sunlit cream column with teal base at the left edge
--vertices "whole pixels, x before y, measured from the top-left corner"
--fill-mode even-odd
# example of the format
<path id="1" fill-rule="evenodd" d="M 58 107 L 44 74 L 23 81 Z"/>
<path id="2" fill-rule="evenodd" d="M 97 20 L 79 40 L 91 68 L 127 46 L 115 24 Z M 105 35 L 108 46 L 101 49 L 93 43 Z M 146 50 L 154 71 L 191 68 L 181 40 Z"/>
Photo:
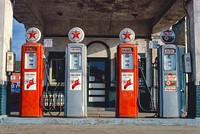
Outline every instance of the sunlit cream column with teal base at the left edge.
<path id="1" fill-rule="evenodd" d="M 11 50 L 13 5 L 10 0 L 0 0 L 0 115 L 6 115 L 6 52 Z"/>

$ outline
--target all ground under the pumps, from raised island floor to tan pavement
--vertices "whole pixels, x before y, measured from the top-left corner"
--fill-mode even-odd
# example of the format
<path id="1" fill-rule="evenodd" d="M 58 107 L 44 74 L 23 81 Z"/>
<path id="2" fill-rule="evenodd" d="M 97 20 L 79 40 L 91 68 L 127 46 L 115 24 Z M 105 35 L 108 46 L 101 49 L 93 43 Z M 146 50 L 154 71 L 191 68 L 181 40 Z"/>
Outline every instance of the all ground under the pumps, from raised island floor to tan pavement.
<path id="1" fill-rule="evenodd" d="M 56 114 L 56 113 L 55 113 Z M 66 118 L 48 113 L 42 118 L 0 117 L 0 134 L 199 134 L 200 119 L 153 118 L 155 113 L 139 113 L 138 118 L 115 118 L 114 111 L 88 110 L 88 118 Z"/>

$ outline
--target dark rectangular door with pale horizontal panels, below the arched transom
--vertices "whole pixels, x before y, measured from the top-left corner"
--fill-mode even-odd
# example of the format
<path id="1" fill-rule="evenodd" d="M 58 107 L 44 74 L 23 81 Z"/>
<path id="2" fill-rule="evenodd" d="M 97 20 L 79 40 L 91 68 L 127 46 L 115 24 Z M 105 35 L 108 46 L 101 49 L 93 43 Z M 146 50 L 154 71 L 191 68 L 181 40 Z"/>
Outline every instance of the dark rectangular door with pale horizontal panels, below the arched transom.
<path id="1" fill-rule="evenodd" d="M 89 107 L 106 107 L 109 70 L 108 58 L 88 58 Z"/>

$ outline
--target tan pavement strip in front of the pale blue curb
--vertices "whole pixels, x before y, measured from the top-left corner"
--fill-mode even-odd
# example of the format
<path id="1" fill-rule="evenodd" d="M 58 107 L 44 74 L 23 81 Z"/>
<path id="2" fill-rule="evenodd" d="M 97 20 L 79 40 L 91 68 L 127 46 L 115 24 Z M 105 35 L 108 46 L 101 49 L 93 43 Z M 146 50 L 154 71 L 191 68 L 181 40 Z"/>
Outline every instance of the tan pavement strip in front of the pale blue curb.
<path id="1" fill-rule="evenodd" d="M 199 134 L 199 126 L 0 125 L 1 134 Z"/>

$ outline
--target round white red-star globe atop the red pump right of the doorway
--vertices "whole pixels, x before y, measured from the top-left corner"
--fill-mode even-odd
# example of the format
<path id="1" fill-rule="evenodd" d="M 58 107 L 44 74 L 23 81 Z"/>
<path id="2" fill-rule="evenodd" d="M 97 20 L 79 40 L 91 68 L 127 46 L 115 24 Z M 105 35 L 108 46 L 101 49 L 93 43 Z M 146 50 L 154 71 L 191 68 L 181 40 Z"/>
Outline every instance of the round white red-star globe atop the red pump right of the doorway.
<path id="1" fill-rule="evenodd" d="M 122 42 L 132 42 L 135 39 L 135 33 L 132 29 L 125 28 L 120 32 L 119 38 Z"/>

